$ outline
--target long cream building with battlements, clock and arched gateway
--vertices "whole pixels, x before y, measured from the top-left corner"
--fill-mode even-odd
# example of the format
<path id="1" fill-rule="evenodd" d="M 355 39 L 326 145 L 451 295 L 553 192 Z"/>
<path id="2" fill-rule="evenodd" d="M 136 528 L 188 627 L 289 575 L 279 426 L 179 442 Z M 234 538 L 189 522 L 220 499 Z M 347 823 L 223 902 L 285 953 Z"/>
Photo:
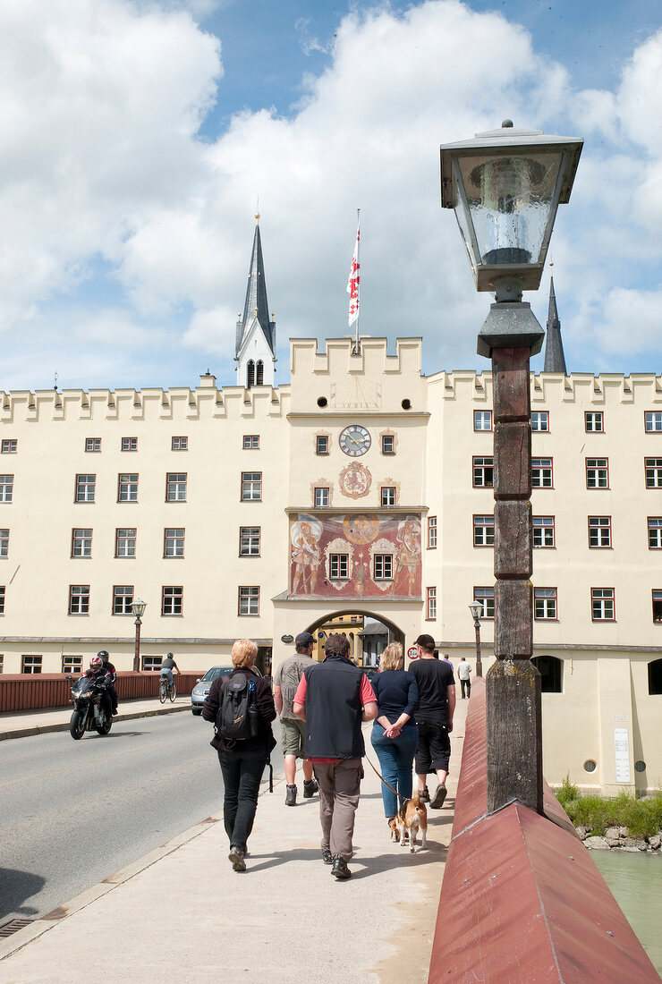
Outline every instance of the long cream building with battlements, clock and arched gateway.
<path id="1" fill-rule="evenodd" d="M 492 377 L 421 350 L 295 338 L 278 388 L 1 394 L 2 671 L 130 669 L 137 596 L 145 669 L 243 636 L 269 668 L 341 615 L 475 667 L 476 597 L 487 669 Z M 546 777 L 659 787 L 662 378 L 543 372 L 531 408 Z"/>

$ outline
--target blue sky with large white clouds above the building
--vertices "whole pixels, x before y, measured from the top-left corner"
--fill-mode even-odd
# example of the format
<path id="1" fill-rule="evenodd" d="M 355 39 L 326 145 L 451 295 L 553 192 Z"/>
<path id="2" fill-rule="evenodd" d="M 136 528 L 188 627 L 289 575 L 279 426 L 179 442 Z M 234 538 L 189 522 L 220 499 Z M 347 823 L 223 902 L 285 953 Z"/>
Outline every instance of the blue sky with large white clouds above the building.
<path id="1" fill-rule="evenodd" d="M 659 373 L 659 0 L 3 0 L 0 390 L 234 385 L 258 209 L 276 384 L 289 338 L 351 331 L 358 208 L 361 334 L 488 369 L 439 146 L 505 118 L 585 142 L 569 372 Z"/>

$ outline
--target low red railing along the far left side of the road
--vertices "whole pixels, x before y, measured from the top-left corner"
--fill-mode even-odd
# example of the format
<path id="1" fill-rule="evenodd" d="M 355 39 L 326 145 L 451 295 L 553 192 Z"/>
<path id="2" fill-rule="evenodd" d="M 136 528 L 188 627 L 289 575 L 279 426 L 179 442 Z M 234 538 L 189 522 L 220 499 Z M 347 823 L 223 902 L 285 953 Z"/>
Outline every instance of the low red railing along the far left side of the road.
<path id="1" fill-rule="evenodd" d="M 180 673 L 175 675 L 178 694 L 190 694 L 196 681 L 203 675 Z M 78 679 L 79 674 L 73 674 Z M 115 689 L 120 701 L 136 698 L 158 697 L 158 672 L 118 673 Z M 70 703 L 71 681 L 64 673 L 8 673 L 0 676 L 0 713 L 15 710 L 31 710 L 36 707 L 66 707 Z"/>

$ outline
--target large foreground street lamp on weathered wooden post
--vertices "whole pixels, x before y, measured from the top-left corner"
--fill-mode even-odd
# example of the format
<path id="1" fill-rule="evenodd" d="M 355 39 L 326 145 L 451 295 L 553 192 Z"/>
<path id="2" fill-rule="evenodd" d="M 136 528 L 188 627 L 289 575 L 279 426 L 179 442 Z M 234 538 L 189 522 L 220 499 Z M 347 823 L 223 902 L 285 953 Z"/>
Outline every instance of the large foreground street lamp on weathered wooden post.
<path id="1" fill-rule="evenodd" d="M 496 661 L 486 676 L 487 809 L 542 813 L 540 674 L 533 653 L 529 359 L 544 332 L 522 290 L 537 290 L 554 219 L 566 204 L 579 138 L 500 130 L 441 148 L 442 207 L 453 209 L 476 289 L 494 291 L 478 335 L 494 387 Z"/>

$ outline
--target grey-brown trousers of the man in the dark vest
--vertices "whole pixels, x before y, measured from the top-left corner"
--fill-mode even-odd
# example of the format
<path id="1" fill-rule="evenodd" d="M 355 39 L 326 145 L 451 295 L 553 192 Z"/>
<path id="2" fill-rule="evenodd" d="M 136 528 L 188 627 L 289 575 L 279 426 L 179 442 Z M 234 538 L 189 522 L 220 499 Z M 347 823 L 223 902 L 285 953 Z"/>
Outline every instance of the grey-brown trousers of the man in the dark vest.
<path id="1" fill-rule="evenodd" d="M 338 762 L 313 764 L 315 778 L 320 784 L 320 821 L 322 849 L 329 849 L 345 861 L 352 856 L 354 816 L 359 805 L 361 775 L 360 759 L 340 759 Z"/>

